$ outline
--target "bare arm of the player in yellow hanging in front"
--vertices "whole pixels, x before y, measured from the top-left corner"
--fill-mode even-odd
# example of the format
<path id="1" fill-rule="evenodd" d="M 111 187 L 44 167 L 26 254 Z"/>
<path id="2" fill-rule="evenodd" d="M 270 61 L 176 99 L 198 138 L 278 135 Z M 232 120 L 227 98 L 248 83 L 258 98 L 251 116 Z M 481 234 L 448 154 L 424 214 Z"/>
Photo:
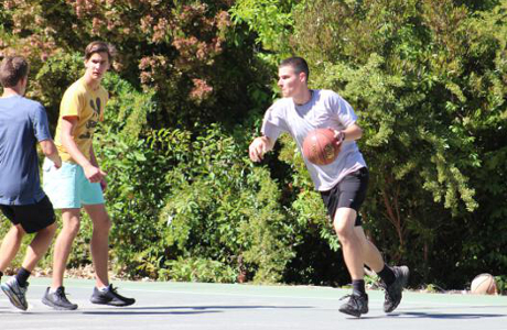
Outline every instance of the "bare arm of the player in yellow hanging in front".
<path id="1" fill-rule="evenodd" d="M 65 117 L 62 120 L 62 144 L 71 157 L 83 167 L 86 178 L 90 183 L 99 183 L 106 174 L 100 170 L 96 164 L 88 161 L 88 158 L 77 147 L 73 136 L 76 124 L 77 117 Z"/>

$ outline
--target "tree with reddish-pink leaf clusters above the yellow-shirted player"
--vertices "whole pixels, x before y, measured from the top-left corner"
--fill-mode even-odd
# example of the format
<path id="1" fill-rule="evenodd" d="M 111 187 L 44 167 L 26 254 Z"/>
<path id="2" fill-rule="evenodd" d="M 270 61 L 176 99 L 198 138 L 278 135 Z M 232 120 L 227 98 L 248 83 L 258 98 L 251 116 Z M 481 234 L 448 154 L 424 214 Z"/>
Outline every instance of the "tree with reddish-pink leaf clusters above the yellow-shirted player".
<path id="1" fill-rule="evenodd" d="M 3 52 L 29 57 L 32 72 L 51 58 L 82 54 L 93 40 L 118 48 L 115 69 L 136 88 L 155 90 L 150 125 L 192 128 L 195 122 L 237 123 L 258 107 L 266 77 L 252 56 L 254 40 L 230 21 L 229 0 L 109 1 L 6 0 Z M 36 86 L 32 96 L 57 113 L 68 81 Z M 56 89 L 56 90 L 55 90 Z M 54 91 L 55 90 L 55 91 Z M 50 94 L 47 96 L 46 94 Z"/>

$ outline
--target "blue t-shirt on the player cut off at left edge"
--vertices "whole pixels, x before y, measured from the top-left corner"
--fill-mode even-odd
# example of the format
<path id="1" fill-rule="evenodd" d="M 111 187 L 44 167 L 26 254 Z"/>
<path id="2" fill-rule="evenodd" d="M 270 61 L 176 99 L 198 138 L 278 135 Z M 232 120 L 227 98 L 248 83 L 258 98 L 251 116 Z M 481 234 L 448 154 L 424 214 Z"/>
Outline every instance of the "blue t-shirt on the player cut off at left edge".
<path id="1" fill-rule="evenodd" d="M 0 204 L 31 205 L 45 195 L 36 143 L 51 140 L 44 107 L 21 96 L 0 98 Z"/>

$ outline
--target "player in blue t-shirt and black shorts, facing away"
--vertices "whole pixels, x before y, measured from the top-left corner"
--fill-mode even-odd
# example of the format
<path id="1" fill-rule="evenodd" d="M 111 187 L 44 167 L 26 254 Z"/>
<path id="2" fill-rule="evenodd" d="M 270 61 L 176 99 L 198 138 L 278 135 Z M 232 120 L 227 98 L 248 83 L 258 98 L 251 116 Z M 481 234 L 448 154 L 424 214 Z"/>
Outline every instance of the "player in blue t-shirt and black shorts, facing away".
<path id="1" fill-rule="evenodd" d="M 0 279 L 17 255 L 22 238 L 35 233 L 17 275 L 1 284 L 17 308 L 26 310 L 31 272 L 54 237 L 55 215 L 41 188 L 36 143 L 60 168 L 62 160 L 50 134 L 44 107 L 23 97 L 29 65 L 23 57 L 8 56 L 0 64 L 0 210 L 12 227 L 0 245 Z"/>

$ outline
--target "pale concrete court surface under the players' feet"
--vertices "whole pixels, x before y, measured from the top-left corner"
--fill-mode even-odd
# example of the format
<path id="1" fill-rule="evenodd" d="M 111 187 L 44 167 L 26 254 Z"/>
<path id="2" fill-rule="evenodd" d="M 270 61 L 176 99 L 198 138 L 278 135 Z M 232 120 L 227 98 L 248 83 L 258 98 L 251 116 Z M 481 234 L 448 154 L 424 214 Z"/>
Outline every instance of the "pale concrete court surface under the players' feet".
<path id="1" fill-rule="evenodd" d="M 6 280 L 4 276 L 2 280 Z M 384 292 L 368 290 L 369 312 L 354 318 L 337 311 L 345 289 L 202 283 L 114 282 L 137 299 L 125 308 L 88 301 L 93 280 L 66 279 L 75 311 L 41 302 L 48 278 L 31 278 L 29 310 L 20 311 L 0 293 L 0 330 L 11 329 L 346 329 L 507 330 L 506 296 L 403 293 L 395 312 L 382 311 Z"/>

